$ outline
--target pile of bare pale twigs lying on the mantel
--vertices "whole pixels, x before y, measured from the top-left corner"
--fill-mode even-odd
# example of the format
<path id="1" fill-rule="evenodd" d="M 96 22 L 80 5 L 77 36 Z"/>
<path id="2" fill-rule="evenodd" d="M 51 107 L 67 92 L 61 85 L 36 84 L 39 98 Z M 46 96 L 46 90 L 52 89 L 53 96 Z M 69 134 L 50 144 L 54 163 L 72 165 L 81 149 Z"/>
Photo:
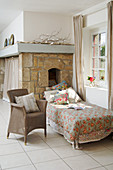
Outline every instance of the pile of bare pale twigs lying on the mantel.
<path id="1" fill-rule="evenodd" d="M 41 34 L 38 39 L 35 39 L 34 43 L 41 43 L 41 44 L 69 44 L 70 41 L 70 34 L 67 37 L 61 38 L 59 37 L 60 31 L 52 32 L 51 34 Z"/>

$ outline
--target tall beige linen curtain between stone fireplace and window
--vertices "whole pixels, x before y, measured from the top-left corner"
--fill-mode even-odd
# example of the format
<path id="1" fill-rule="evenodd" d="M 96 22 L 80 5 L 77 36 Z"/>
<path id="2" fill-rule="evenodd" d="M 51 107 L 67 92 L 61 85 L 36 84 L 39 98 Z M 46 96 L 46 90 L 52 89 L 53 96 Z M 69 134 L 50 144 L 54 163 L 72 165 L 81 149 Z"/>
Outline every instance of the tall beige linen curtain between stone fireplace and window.
<path id="1" fill-rule="evenodd" d="M 84 100 L 84 58 L 82 48 L 82 28 L 83 28 L 83 16 L 78 15 L 73 17 L 74 24 L 74 40 L 75 40 L 75 86 L 76 92 Z"/>

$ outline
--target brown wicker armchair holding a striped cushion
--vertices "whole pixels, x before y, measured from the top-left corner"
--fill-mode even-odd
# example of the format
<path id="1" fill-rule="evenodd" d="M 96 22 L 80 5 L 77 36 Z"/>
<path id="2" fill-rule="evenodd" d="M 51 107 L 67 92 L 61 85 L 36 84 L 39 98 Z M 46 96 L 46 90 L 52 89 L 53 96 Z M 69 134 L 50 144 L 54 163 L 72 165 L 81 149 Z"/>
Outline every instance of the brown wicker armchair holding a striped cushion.
<path id="1" fill-rule="evenodd" d="M 24 135 L 25 145 L 27 143 L 27 135 L 33 129 L 43 128 L 46 136 L 46 100 L 37 100 L 40 109 L 38 112 L 26 113 L 25 107 L 16 104 L 15 96 L 23 96 L 28 94 L 27 89 L 15 89 L 7 92 L 11 104 L 11 114 L 7 138 L 10 133 Z"/>

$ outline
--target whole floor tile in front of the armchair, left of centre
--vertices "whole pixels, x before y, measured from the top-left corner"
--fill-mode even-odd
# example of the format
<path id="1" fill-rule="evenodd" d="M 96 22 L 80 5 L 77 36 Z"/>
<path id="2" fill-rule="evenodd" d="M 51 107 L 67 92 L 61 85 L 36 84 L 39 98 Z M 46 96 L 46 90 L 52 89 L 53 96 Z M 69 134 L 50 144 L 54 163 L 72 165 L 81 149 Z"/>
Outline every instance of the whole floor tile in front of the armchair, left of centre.
<path id="1" fill-rule="evenodd" d="M 33 163 L 46 162 L 60 159 L 52 149 L 36 150 L 27 152 Z"/>

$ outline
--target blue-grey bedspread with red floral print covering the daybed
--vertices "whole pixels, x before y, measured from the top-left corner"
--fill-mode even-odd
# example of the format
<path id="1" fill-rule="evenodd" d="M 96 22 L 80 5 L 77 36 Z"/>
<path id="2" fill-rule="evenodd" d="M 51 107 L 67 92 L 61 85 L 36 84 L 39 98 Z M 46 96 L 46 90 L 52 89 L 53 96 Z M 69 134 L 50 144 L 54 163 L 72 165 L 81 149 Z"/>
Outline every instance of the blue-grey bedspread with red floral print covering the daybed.
<path id="1" fill-rule="evenodd" d="M 67 106 L 48 103 L 47 116 L 63 129 L 63 134 L 70 142 L 80 135 L 106 130 L 113 130 L 113 111 L 86 102 L 84 110 L 68 109 Z"/>

